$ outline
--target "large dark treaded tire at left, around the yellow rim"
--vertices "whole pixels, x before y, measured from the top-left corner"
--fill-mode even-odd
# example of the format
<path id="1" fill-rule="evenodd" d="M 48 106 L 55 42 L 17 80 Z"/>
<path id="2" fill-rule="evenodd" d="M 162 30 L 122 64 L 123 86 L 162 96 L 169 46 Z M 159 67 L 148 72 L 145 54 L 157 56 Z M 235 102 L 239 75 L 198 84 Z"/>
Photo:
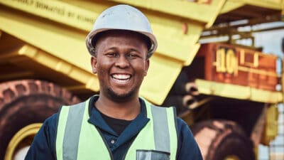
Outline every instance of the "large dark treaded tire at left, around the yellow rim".
<path id="1" fill-rule="evenodd" d="M 18 130 L 42 123 L 60 105 L 80 102 L 67 90 L 41 80 L 16 80 L 0 84 L 0 159 Z"/>

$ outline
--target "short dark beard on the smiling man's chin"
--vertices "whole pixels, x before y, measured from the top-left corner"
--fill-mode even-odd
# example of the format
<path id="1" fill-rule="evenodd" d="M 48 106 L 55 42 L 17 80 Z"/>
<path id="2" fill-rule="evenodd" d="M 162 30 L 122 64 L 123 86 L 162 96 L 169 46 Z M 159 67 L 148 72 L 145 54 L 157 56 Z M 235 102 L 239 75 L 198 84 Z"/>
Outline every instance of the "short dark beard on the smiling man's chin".
<path id="1" fill-rule="evenodd" d="M 108 87 L 107 95 L 109 95 L 109 97 L 116 102 L 126 102 L 127 100 L 130 100 L 132 97 L 134 97 L 136 94 L 135 89 L 133 89 L 130 92 L 127 92 L 126 94 L 119 95 L 114 92 L 114 90 L 111 90 L 111 88 Z"/>

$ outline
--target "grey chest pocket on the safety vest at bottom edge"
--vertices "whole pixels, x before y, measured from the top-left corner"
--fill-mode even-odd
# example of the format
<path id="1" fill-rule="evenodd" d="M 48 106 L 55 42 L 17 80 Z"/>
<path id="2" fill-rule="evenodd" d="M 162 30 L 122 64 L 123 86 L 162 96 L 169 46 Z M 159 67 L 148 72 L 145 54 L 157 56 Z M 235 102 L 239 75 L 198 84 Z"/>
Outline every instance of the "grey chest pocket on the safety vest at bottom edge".
<path id="1" fill-rule="evenodd" d="M 155 150 L 136 150 L 136 160 L 170 160 L 170 153 Z"/>

